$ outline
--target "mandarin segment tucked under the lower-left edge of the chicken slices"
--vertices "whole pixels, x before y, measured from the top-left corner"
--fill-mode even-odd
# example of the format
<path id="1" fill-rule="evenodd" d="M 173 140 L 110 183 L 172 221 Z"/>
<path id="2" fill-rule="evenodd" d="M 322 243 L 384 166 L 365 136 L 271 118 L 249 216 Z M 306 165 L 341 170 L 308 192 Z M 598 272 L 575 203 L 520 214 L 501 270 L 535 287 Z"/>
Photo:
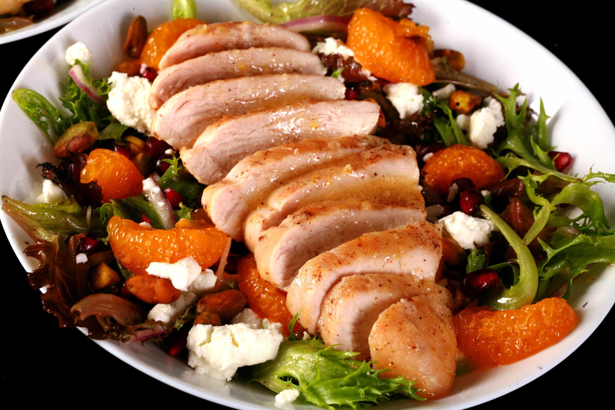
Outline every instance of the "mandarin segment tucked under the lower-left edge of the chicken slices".
<path id="1" fill-rule="evenodd" d="M 286 292 L 264 280 L 256 270 L 256 260 L 250 254 L 239 262 L 239 290 L 248 298 L 248 306 L 261 317 L 282 323 L 284 334 L 288 335 L 288 325 L 293 319 L 286 307 Z M 297 321 L 295 333 L 303 334 L 303 326 Z"/>

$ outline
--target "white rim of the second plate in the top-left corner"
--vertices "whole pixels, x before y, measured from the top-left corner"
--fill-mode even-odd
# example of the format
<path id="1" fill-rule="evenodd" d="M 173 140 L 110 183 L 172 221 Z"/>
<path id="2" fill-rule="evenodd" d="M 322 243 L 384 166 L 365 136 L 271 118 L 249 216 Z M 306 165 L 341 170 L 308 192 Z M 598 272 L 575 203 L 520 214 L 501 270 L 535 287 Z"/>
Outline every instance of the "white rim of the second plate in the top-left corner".
<path id="1" fill-rule="evenodd" d="M 50 15 L 41 18 L 36 23 L 25 26 L 18 30 L 0 34 L 0 44 L 25 39 L 39 33 L 52 30 L 73 20 L 75 17 L 84 14 L 98 3 L 105 0 L 70 0 L 55 7 Z"/>

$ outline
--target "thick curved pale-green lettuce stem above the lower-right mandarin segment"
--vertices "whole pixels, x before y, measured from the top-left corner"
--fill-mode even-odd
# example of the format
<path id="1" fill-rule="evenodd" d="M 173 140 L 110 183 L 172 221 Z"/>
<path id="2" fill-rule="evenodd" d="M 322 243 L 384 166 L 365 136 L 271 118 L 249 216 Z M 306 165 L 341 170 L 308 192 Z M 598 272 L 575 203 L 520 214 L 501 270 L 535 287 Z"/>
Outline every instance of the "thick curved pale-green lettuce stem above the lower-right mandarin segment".
<path id="1" fill-rule="evenodd" d="M 516 262 L 519 266 L 518 280 L 509 288 L 504 287 L 490 293 L 487 304 L 498 310 L 520 309 L 531 304 L 538 290 L 538 268 L 534 256 L 523 240 L 494 211 L 485 205 L 480 206 L 480 211 L 485 219 L 495 224 L 517 253 Z"/>

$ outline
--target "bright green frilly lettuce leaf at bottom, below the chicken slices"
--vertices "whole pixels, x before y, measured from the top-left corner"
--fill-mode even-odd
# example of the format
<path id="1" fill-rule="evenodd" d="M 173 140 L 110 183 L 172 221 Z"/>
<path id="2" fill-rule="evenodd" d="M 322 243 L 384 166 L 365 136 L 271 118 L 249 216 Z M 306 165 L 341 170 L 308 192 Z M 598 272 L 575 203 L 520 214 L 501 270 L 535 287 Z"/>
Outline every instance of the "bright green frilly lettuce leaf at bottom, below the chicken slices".
<path id="1" fill-rule="evenodd" d="M 316 339 L 282 342 L 277 357 L 252 366 L 251 381 L 260 382 L 276 393 L 288 388 L 300 391 L 300 403 L 353 409 L 389 401 L 395 395 L 424 400 L 404 377 L 381 379 L 386 370 L 374 370 L 371 362 L 354 360 L 355 352 L 325 347 Z"/>

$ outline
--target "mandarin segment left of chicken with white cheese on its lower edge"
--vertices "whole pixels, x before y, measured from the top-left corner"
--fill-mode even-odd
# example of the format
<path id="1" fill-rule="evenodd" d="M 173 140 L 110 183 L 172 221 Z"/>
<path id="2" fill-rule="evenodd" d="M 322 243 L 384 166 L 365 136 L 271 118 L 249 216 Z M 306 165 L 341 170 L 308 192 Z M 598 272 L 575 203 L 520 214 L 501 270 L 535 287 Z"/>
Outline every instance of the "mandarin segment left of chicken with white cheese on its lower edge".
<path id="1" fill-rule="evenodd" d="M 175 263 L 188 256 L 207 269 L 220 259 L 228 238 L 215 227 L 197 221 L 165 231 L 119 216 L 109 219 L 107 231 L 114 255 L 135 275 L 146 274 L 151 262 Z"/>

